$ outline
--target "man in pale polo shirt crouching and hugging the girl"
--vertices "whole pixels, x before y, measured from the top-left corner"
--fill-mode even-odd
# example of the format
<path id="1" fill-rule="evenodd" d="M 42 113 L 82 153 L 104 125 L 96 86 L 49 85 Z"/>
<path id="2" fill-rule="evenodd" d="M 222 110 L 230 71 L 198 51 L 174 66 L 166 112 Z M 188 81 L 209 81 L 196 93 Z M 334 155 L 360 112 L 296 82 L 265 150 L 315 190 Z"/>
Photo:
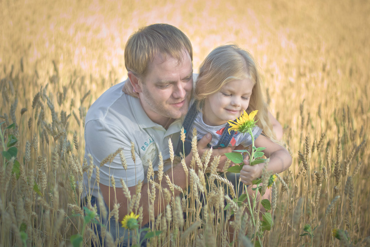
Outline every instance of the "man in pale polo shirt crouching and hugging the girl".
<path id="1" fill-rule="evenodd" d="M 110 180 L 113 177 L 115 187 L 121 187 L 120 179 L 123 178 L 131 195 L 134 195 L 138 181 L 146 178 L 148 160 L 152 162 L 154 170 L 158 170 L 159 154 L 162 154 L 163 160 L 169 158 L 168 138 L 172 143 L 177 143 L 181 117 L 189 107 L 193 86 L 192 46 L 188 37 L 176 27 L 167 24 L 147 26 L 127 41 L 125 66 L 128 79 L 139 98 L 124 94 L 121 91 L 123 83 L 117 84 L 92 104 L 85 121 L 85 153 L 88 160 L 88 154 L 91 154 L 94 167 L 100 166 L 110 153 L 123 148 L 127 170 L 122 167 L 119 155 L 101 166 L 98 177 L 100 192 L 96 168 L 90 179 L 88 174 L 84 175 L 85 196 L 91 194 L 94 201 L 101 193 L 108 210 L 119 203 L 120 220 L 130 213 L 127 211 L 128 200 L 121 189 L 117 189 L 116 196 Z M 200 155 L 210 141 L 209 134 L 198 142 Z M 131 142 L 135 146 L 135 161 L 131 158 Z M 215 150 L 214 154 L 230 151 L 231 148 L 223 148 Z M 189 154 L 185 158 L 187 166 L 190 165 L 191 156 Z M 168 168 L 165 167 L 165 170 Z M 181 164 L 174 164 L 168 176 L 176 185 L 186 188 L 186 176 Z M 168 187 L 165 181 L 161 186 Z M 142 225 L 149 222 L 147 187 L 148 184 L 143 183 L 140 200 L 144 208 Z M 177 195 L 179 191 L 175 190 Z M 155 216 L 161 213 L 158 208 L 163 211 L 166 204 L 162 200 L 162 206 L 158 207 L 158 198 L 156 196 L 154 203 Z M 111 226 L 117 226 L 114 218 L 110 221 Z M 117 237 L 115 230 L 108 231 Z"/>

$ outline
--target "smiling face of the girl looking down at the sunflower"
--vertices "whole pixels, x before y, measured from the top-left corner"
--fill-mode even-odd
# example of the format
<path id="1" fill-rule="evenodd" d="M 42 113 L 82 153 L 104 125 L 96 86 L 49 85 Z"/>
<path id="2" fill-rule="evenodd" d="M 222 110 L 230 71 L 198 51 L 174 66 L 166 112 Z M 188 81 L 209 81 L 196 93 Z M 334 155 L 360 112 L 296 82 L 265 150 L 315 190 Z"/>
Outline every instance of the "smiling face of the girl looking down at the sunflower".
<path id="1" fill-rule="evenodd" d="M 209 126 L 219 126 L 240 117 L 249 105 L 254 83 L 250 79 L 232 80 L 205 101 L 203 121 Z"/>

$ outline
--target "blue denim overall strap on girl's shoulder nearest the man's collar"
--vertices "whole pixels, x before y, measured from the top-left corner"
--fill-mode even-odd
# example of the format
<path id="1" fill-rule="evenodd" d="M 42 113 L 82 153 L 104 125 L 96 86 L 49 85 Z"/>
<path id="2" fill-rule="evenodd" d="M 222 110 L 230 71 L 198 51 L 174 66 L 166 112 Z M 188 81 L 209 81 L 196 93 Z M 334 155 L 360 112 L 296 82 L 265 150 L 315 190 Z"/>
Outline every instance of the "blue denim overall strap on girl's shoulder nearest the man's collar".
<path id="1" fill-rule="evenodd" d="M 191 152 L 191 137 L 189 139 L 189 133 L 190 133 L 189 130 L 190 130 L 192 124 L 194 123 L 196 115 L 198 115 L 198 113 L 199 113 L 199 110 L 196 107 L 197 103 L 198 103 L 198 101 L 195 100 L 194 103 L 191 105 L 188 113 L 186 113 L 184 123 L 182 123 L 182 127 L 184 127 L 184 131 L 185 131 L 184 149 L 183 149 L 183 146 L 182 146 L 182 141 L 181 141 L 181 139 L 179 139 L 179 141 L 177 143 L 177 147 L 176 147 L 176 152 L 175 152 L 177 156 L 180 156 L 180 153 L 182 153 L 184 151 L 185 151 L 184 156 L 187 156 Z"/>

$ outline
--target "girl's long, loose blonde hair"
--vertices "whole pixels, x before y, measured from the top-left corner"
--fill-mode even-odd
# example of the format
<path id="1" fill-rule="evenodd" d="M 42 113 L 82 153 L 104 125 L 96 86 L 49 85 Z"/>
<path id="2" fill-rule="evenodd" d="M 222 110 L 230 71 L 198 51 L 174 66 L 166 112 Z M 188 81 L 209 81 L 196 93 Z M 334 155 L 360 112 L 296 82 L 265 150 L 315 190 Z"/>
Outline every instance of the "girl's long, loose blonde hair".
<path id="1" fill-rule="evenodd" d="M 246 112 L 249 114 L 253 110 L 258 110 L 257 125 L 262 128 L 265 136 L 277 142 L 270 122 L 268 106 L 264 100 L 263 85 L 256 62 L 248 51 L 235 44 L 215 48 L 202 62 L 194 95 L 198 100 L 198 109 L 204 106 L 208 96 L 221 90 L 223 85 L 232 80 L 243 79 L 250 79 L 255 83 Z"/>

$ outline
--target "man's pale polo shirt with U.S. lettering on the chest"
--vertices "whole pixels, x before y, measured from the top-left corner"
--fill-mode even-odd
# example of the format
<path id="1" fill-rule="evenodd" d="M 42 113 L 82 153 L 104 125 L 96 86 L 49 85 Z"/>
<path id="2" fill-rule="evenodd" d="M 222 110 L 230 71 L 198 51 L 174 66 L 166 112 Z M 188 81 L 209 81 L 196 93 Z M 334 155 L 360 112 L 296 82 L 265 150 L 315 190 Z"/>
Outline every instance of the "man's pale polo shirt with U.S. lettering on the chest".
<path id="1" fill-rule="evenodd" d="M 114 177 L 116 187 L 121 187 L 120 178 L 124 179 L 128 187 L 135 186 L 139 180 L 144 181 L 148 160 L 152 161 L 154 170 L 158 170 L 159 152 L 163 160 L 169 158 L 168 138 L 171 138 L 174 146 L 177 144 L 183 121 L 183 118 L 177 119 L 165 130 L 149 119 L 139 99 L 122 92 L 123 86 L 122 82 L 105 91 L 91 105 L 85 120 L 85 157 L 88 162 L 87 154 L 91 154 L 94 167 L 100 166 L 108 154 L 122 147 L 128 163 L 126 171 L 117 155 L 112 163 L 100 167 L 100 183 L 106 186 L 111 186 L 111 176 Z M 131 141 L 135 144 L 135 163 L 131 158 Z M 95 180 L 94 168 L 90 181 L 92 196 L 98 196 Z M 86 173 L 84 183 L 86 196 L 89 189 Z"/>

